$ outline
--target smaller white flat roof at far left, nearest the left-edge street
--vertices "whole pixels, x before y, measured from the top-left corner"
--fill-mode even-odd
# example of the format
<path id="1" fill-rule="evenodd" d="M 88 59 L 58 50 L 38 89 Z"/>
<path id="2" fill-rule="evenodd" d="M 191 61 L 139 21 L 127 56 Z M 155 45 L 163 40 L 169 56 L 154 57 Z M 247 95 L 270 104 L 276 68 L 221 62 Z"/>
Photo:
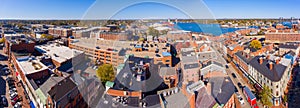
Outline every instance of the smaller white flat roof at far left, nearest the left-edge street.
<path id="1" fill-rule="evenodd" d="M 25 75 L 48 69 L 48 67 L 41 63 L 39 60 L 31 57 L 17 58 L 17 63 L 19 64 L 21 70 L 23 70 Z"/>

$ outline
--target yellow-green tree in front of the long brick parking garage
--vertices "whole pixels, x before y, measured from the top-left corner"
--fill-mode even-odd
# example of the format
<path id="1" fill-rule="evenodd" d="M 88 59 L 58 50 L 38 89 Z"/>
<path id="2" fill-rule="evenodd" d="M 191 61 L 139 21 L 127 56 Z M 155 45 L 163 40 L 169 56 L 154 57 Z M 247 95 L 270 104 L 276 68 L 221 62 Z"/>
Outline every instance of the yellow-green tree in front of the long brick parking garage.
<path id="1" fill-rule="evenodd" d="M 103 64 L 99 66 L 96 75 L 103 85 L 105 85 L 107 81 L 113 81 L 115 79 L 115 72 L 111 64 Z"/>

